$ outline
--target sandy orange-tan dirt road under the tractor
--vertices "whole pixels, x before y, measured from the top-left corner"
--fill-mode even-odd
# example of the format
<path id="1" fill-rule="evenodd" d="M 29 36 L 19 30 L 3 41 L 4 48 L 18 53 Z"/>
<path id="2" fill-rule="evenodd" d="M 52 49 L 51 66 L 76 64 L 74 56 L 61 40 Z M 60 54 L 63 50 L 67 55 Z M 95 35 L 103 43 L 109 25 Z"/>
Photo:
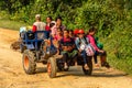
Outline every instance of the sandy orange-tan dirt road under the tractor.
<path id="1" fill-rule="evenodd" d="M 26 75 L 21 53 L 10 50 L 18 36 L 18 31 L 0 29 L 0 88 L 132 88 L 132 78 L 117 69 L 94 68 L 92 76 L 85 76 L 77 66 L 51 79 L 38 64 L 35 75 Z"/>

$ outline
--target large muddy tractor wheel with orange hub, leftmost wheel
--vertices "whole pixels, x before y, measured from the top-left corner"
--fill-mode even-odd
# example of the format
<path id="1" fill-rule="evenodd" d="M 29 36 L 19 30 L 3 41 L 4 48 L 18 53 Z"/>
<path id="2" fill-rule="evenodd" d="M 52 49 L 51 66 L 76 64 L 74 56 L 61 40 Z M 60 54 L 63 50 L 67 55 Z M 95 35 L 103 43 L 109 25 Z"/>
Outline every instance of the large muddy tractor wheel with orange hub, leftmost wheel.
<path id="1" fill-rule="evenodd" d="M 29 75 L 35 74 L 36 63 L 34 59 L 34 54 L 31 51 L 25 50 L 23 53 L 22 64 L 24 72 Z"/>

